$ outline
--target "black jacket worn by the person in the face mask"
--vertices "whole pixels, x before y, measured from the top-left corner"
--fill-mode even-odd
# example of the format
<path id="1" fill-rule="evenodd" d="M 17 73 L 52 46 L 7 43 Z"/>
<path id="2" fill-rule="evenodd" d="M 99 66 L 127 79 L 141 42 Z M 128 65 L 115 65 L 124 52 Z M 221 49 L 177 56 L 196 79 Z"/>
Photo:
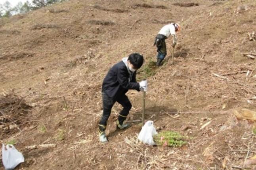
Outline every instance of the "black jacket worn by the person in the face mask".
<path id="1" fill-rule="evenodd" d="M 129 89 L 139 91 L 139 83 L 136 82 L 136 71 L 129 73 L 123 61 L 115 64 L 103 80 L 102 92 L 110 98 L 117 99 Z"/>

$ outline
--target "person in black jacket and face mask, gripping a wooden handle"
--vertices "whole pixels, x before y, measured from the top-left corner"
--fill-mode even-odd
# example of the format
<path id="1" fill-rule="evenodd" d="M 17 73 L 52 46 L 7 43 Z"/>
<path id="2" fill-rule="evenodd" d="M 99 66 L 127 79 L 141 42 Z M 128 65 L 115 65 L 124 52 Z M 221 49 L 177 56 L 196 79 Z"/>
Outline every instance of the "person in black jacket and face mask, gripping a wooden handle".
<path id="1" fill-rule="evenodd" d="M 126 129 L 130 124 L 124 123 L 129 114 L 132 104 L 125 95 L 130 89 L 137 91 L 147 90 L 147 80 L 136 82 L 136 70 L 143 64 L 143 56 L 139 53 L 132 53 L 127 58 L 115 64 L 107 73 L 102 84 L 103 114 L 99 121 L 99 140 L 107 142 L 105 129 L 111 109 L 115 102 L 123 106 L 118 115 L 117 129 Z"/>

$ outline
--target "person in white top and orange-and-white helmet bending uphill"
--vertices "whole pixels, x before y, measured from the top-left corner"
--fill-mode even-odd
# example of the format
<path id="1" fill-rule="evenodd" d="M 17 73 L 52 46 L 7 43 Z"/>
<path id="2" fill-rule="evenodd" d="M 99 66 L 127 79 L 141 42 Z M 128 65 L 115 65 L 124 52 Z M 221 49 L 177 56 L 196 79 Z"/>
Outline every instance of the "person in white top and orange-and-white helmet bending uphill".
<path id="1" fill-rule="evenodd" d="M 180 25 L 177 23 L 171 23 L 165 25 L 161 28 L 157 36 L 155 37 L 154 45 L 157 46 L 157 66 L 161 65 L 162 60 L 164 60 L 167 51 L 166 51 L 166 43 L 165 39 L 167 39 L 170 35 L 173 36 L 172 47 L 175 48 L 177 44 L 177 35 L 176 32 L 180 31 Z"/>

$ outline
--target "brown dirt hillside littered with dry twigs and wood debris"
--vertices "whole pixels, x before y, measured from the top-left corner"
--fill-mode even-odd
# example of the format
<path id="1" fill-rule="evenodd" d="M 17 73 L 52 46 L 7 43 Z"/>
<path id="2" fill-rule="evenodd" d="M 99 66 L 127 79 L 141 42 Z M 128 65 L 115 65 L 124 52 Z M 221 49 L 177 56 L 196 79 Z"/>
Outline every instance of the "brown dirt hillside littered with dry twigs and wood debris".
<path id="1" fill-rule="evenodd" d="M 23 153 L 20 170 L 256 169 L 246 162 L 256 155 L 255 121 L 234 115 L 256 111 L 256 59 L 246 56 L 256 57 L 255 11 L 255 0 L 70 0 L 0 19 L 0 143 Z M 181 25 L 174 64 L 170 38 L 155 67 L 155 36 L 170 22 Z M 109 143 L 99 143 L 103 78 L 132 52 L 145 58 L 137 77 L 149 82 L 146 120 L 189 136 L 187 145 L 140 144 L 139 123 L 116 131 L 118 104 Z M 142 93 L 127 95 L 129 119 L 139 120 Z M 56 146 L 26 148 L 42 144 Z"/>

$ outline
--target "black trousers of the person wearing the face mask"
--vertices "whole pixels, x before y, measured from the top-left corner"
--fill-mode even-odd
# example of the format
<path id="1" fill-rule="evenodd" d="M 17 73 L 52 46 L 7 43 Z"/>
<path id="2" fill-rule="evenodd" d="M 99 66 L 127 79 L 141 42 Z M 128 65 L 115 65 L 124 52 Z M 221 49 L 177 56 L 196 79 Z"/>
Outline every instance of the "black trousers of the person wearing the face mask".
<path id="1" fill-rule="evenodd" d="M 111 109 L 115 102 L 118 102 L 120 105 L 123 106 L 123 109 L 118 115 L 118 121 L 120 125 L 122 125 L 124 120 L 126 120 L 126 117 L 132 108 L 132 104 L 128 99 L 127 95 L 121 94 L 117 99 L 113 100 L 106 93 L 102 92 L 103 114 L 101 116 L 101 120 L 99 121 L 99 130 L 101 132 L 105 131 L 106 129 L 107 120 L 111 114 Z"/>

